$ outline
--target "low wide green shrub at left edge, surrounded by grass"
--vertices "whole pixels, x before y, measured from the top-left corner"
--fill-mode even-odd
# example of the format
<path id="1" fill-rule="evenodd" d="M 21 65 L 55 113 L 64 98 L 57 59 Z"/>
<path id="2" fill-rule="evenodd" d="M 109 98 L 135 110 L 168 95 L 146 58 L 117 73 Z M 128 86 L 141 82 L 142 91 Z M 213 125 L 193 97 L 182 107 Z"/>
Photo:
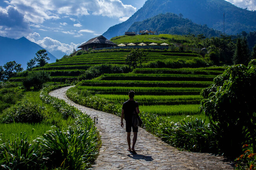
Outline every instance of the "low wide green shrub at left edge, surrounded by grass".
<path id="1" fill-rule="evenodd" d="M 2 123 L 23 122 L 23 123 L 37 123 L 43 121 L 42 111 L 44 107 L 37 103 L 29 101 L 22 101 L 19 104 L 4 110 L 1 115 Z"/>

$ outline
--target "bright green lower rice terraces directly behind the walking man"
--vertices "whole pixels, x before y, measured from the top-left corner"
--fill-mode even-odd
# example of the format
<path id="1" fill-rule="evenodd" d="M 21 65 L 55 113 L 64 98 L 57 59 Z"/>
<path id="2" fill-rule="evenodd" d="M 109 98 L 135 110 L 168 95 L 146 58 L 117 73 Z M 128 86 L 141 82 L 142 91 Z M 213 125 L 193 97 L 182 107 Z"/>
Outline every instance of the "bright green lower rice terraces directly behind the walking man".
<path id="1" fill-rule="evenodd" d="M 104 74 L 77 85 L 81 94 L 88 92 L 98 98 L 121 105 L 128 100 L 128 91 L 135 91 L 135 100 L 143 112 L 180 120 L 199 114 L 200 91 L 208 87 L 223 67 L 208 68 L 137 68 L 132 73 Z M 178 115 L 178 117 L 177 117 Z"/>

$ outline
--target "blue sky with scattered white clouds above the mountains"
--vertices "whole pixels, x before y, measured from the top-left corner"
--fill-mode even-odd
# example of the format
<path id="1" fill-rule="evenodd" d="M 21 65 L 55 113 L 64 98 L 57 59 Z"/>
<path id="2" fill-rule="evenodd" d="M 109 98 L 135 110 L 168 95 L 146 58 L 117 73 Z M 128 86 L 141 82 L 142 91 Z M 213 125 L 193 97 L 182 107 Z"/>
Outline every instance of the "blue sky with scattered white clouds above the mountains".
<path id="1" fill-rule="evenodd" d="M 146 0 L 0 0 L 0 36 L 26 37 L 57 58 L 127 20 Z M 256 9 L 256 0 L 227 0 Z"/>

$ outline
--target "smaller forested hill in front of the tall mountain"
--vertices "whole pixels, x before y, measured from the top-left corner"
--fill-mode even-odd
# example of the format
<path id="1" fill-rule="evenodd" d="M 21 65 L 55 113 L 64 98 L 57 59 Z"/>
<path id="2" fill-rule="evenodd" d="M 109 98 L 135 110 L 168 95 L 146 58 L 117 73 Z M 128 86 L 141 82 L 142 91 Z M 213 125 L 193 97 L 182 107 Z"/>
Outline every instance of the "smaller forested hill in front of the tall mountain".
<path id="1" fill-rule="evenodd" d="M 203 34 L 206 37 L 216 37 L 221 35 L 221 31 L 210 29 L 206 25 L 195 24 L 189 19 L 184 19 L 174 13 L 159 14 L 141 22 L 134 22 L 128 31 L 151 29 L 157 30 L 158 34 Z"/>

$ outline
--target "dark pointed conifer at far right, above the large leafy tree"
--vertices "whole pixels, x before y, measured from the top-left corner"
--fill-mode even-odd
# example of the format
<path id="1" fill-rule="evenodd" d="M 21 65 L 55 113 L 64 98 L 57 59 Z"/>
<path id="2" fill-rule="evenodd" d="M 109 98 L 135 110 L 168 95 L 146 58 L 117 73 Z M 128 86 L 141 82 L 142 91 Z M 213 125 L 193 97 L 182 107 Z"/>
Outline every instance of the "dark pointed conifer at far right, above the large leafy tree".
<path id="1" fill-rule="evenodd" d="M 248 48 L 247 40 L 238 38 L 236 42 L 236 50 L 233 56 L 234 64 L 247 65 L 250 59 L 250 50 Z"/>

